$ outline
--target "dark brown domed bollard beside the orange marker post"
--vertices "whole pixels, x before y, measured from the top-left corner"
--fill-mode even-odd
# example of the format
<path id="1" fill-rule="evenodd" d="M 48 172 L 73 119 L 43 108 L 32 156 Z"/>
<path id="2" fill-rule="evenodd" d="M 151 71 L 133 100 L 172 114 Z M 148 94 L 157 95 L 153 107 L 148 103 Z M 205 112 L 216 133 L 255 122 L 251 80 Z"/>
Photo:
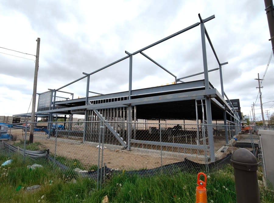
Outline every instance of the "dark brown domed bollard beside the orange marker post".
<path id="1" fill-rule="evenodd" d="M 237 149 L 231 157 L 237 203 L 260 203 L 257 179 L 258 161 L 247 149 Z"/>

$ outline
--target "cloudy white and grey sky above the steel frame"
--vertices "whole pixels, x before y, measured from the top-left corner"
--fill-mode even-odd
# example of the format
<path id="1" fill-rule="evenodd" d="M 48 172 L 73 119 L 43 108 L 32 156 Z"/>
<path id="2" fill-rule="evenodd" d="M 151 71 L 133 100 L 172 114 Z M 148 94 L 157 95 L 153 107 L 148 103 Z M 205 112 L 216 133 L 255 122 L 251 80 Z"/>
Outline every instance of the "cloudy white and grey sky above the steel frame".
<path id="1" fill-rule="evenodd" d="M 271 56 L 264 9 L 263 0 L 2 0 L 0 47 L 35 55 L 40 37 L 37 93 L 42 93 L 123 58 L 125 50 L 132 53 L 199 22 L 198 13 L 203 19 L 215 15 L 205 26 L 220 62 L 229 63 L 223 66 L 224 91 L 230 99 L 240 99 L 244 114 L 250 114 L 251 104 L 256 102 L 255 116 L 261 117 L 258 80 L 254 79 L 258 73 L 263 77 Z M 178 78 L 202 72 L 200 35 L 198 26 L 144 53 Z M 206 46 L 209 69 L 218 68 L 209 44 Z M 2 48 L 0 52 L 0 115 L 26 113 L 33 91 L 35 57 Z M 90 91 L 106 94 L 128 90 L 128 66 L 129 59 L 92 75 Z M 273 66 L 272 59 L 262 83 L 263 103 L 274 101 Z M 184 81 L 202 78 L 199 75 Z M 209 80 L 221 92 L 219 71 L 210 72 Z M 173 81 L 141 54 L 133 56 L 132 89 Z M 85 96 L 86 79 L 61 90 L 74 93 L 74 97 Z M 274 102 L 263 107 L 270 114 L 274 112 Z"/>

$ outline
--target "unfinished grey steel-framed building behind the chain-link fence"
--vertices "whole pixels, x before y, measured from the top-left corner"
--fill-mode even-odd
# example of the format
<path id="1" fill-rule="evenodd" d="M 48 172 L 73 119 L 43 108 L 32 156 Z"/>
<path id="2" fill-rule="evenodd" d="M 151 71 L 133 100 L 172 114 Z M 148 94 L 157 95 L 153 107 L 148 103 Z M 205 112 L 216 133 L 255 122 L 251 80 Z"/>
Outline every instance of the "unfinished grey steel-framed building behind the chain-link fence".
<path id="1" fill-rule="evenodd" d="M 83 143 L 99 143 L 100 127 L 104 127 L 104 144 L 126 150 L 146 152 L 149 150 L 164 150 L 169 156 L 180 154 L 181 157 L 204 157 L 208 161 L 222 158 L 218 150 L 231 145 L 234 135 L 241 129 L 240 117 L 229 102 L 223 90 L 222 66 L 228 62 L 220 62 L 214 50 L 213 43 L 205 28 L 207 21 L 215 16 L 202 19 L 199 22 L 184 28 L 168 37 L 138 51 L 129 53 L 113 63 L 91 73 L 84 73 L 83 77 L 56 88 L 39 93 L 36 118 L 47 118 L 47 130 L 51 135 L 52 121 L 63 118 L 63 128 L 58 136 L 81 139 Z M 202 40 L 203 72 L 194 75 L 179 77 L 168 71 L 162 65 L 147 56 L 143 51 L 156 46 L 172 37 L 200 26 Z M 206 56 L 206 40 L 216 58 L 219 67 L 208 69 Z M 132 58 L 135 54 L 142 54 L 148 60 L 159 66 L 174 77 L 174 84 L 132 89 Z M 111 94 L 98 94 L 89 90 L 90 75 L 108 68 L 123 60 L 129 59 L 128 91 Z M 219 92 L 209 81 L 208 73 L 220 73 Z M 184 82 L 186 78 L 195 75 L 204 75 L 202 80 Z M 86 79 L 86 97 L 73 98 L 73 93 L 62 91 L 64 87 Z M 68 97 L 59 96 L 62 93 Z M 72 98 L 69 98 L 72 97 Z M 228 102 L 227 102 L 228 101 Z M 14 116 L 30 116 L 17 114 Z M 78 118 L 78 122 L 74 122 Z M 218 138 L 214 138 L 218 134 Z M 178 156 L 178 155 L 174 155 Z M 204 160 L 204 158 L 201 158 Z"/>

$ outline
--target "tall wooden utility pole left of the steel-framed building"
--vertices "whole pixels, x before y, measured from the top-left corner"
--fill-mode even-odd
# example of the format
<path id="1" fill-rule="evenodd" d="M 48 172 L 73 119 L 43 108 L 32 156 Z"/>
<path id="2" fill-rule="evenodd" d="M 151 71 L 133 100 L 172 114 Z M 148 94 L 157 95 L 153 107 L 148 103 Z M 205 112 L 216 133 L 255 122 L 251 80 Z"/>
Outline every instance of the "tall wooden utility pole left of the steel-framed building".
<path id="1" fill-rule="evenodd" d="M 36 89 L 37 89 L 37 75 L 39 67 L 39 51 L 40 51 L 40 38 L 37 38 L 37 48 L 36 48 L 36 60 L 34 69 L 34 79 L 33 79 L 33 94 L 32 94 L 32 109 L 31 109 L 31 120 L 30 124 L 30 143 L 33 142 L 33 131 L 35 122 L 35 104 L 36 104 Z"/>

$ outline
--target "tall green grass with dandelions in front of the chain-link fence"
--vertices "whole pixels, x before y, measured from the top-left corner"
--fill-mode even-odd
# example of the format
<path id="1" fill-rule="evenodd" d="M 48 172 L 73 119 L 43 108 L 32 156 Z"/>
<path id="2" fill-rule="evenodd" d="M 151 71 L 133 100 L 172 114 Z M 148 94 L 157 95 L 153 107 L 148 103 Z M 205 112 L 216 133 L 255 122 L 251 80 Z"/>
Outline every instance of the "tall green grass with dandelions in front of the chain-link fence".
<path id="1" fill-rule="evenodd" d="M 21 156 L 22 157 L 22 156 Z M 195 202 L 196 173 L 177 171 L 173 175 L 158 174 L 149 177 L 113 174 L 97 190 L 95 180 L 80 177 L 72 169 L 60 170 L 45 159 L 30 159 L 22 162 L 19 154 L 11 157 L 0 154 L 0 162 L 13 159 L 8 166 L 0 167 L 0 202 L 96 202 L 105 195 L 109 202 L 177 203 Z M 57 157 L 59 162 L 80 166 L 75 159 Z M 43 167 L 30 170 L 27 165 L 40 163 Z M 74 165 L 75 163 L 75 165 Z M 79 167 L 80 168 L 80 167 Z M 97 169 L 96 165 L 90 169 Z M 5 174 L 4 174 L 5 173 Z M 26 192 L 28 186 L 40 185 L 40 190 Z M 21 189 L 16 191 L 21 186 Z M 233 168 L 228 165 L 209 175 L 207 179 L 208 202 L 236 203 Z M 260 187 L 262 203 L 274 202 L 273 192 Z"/>

